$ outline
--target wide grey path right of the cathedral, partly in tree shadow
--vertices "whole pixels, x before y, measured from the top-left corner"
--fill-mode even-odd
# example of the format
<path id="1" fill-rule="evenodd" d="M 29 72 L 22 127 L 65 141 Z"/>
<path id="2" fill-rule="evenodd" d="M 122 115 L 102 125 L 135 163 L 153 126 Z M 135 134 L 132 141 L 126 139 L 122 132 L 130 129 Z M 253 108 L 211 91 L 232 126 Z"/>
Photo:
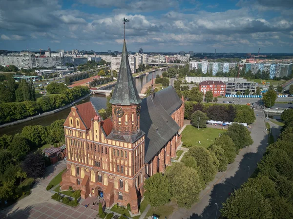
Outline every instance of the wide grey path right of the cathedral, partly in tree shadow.
<path id="1" fill-rule="evenodd" d="M 198 203 L 190 209 L 179 208 L 178 211 L 173 212 L 170 219 L 215 219 L 220 217 L 219 210 L 222 202 L 226 201 L 234 188 L 240 188 L 241 184 L 251 176 L 268 146 L 265 117 L 262 111 L 255 111 L 255 114 L 259 114 L 259 116 L 251 125 L 253 144 L 239 152 L 235 161 L 228 165 L 226 172 L 217 173 L 215 179 L 201 192 Z"/>

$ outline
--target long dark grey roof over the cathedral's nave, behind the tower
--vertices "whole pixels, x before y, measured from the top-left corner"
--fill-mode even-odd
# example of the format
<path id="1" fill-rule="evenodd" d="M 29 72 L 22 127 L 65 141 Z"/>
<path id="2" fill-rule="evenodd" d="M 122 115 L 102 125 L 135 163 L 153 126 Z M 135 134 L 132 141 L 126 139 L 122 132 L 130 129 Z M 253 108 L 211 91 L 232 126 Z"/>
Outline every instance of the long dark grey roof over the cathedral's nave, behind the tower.
<path id="1" fill-rule="evenodd" d="M 148 96 L 141 103 L 140 128 L 146 133 L 145 162 L 149 162 L 180 129 L 171 114 L 182 104 L 173 87 L 169 86 Z"/>

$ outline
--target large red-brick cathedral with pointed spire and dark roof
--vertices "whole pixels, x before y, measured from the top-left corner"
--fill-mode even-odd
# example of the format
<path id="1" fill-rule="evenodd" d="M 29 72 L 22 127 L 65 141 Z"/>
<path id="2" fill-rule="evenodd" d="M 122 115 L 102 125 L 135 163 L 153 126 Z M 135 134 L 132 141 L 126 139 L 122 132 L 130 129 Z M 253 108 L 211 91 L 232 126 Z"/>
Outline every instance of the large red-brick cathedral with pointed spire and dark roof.
<path id="1" fill-rule="evenodd" d="M 80 189 L 106 207 L 138 213 L 144 180 L 164 172 L 181 143 L 184 102 L 169 86 L 140 99 L 124 40 L 118 80 L 110 100 L 112 118 L 102 119 L 92 102 L 71 107 L 64 122 L 67 171 L 61 189 Z"/>

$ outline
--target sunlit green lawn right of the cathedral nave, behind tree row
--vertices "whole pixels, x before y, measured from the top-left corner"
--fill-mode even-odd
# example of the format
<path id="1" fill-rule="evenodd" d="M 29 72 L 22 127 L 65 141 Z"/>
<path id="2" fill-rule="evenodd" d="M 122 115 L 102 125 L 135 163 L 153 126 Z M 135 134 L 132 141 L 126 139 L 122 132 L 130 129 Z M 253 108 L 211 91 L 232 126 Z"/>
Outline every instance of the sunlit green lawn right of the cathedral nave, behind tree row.
<path id="1" fill-rule="evenodd" d="M 192 146 L 202 146 L 207 148 L 215 141 L 215 138 L 219 137 L 219 134 L 225 132 L 226 130 L 217 128 L 200 128 L 198 130 L 192 125 L 187 125 L 182 132 L 182 141 L 189 141 Z"/>

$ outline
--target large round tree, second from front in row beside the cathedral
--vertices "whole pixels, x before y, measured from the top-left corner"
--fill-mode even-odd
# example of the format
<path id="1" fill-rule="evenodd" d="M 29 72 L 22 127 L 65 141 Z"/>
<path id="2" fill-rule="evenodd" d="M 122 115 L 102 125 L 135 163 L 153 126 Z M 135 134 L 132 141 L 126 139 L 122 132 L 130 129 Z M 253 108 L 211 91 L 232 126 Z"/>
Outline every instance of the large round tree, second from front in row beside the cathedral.
<path id="1" fill-rule="evenodd" d="M 202 185 L 195 169 L 183 163 L 173 163 L 166 171 L 166 176 L 171 185 L 172 197 L 179 207 L 189 208 L 199 200 Z"/>

